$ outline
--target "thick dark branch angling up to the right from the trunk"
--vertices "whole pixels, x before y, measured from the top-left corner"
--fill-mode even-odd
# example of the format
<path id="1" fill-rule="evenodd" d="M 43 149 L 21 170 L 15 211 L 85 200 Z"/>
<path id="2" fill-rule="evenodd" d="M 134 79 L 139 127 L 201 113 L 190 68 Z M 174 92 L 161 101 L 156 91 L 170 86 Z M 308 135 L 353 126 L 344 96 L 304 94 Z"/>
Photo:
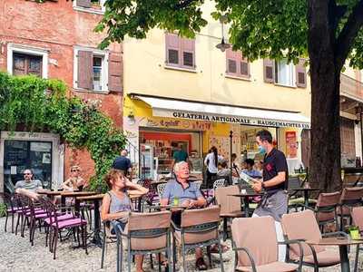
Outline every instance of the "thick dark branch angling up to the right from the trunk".
<path id="1" fill-rule="evenodd" d="M 358 35 L 359 29 L 363 26 L 363 0 L 353 8 L 348 16 L 348 21 L 336 40 L 336 61 L 338 67 L 343 67 L 348 53 Z"/>

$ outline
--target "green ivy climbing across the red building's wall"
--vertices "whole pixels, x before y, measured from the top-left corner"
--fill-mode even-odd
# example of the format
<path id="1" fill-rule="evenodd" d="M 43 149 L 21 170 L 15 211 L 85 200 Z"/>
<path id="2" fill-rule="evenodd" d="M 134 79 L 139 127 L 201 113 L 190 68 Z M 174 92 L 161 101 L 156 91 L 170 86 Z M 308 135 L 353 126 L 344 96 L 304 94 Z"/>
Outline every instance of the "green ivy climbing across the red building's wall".
<path id="1" fill-rule="evenodd" d="M 66 96 L 60 80 L 0 72 L 0 130 L 49 131 L 72 148 L 87 149 L 95 163 L 91 189 L 105 191 L 104 174 L 125 145 L 122 131 L 98 110 L 98 102 Z"/>

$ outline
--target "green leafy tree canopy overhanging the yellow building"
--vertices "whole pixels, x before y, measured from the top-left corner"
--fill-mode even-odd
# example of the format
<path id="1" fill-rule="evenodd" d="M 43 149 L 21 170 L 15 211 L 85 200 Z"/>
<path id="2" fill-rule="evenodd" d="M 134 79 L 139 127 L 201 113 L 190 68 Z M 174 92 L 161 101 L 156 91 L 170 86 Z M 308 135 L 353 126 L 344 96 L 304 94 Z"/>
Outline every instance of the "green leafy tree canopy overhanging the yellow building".
<path id="1" fill-rule="evenodd" d="M 208 1 L 208 0 L 207 0 Z M 208 22 L 203 18 L 203 0 L 107 0 L 106 12 L 97 31 L 107 29 L 101 47 L 111 42 L 121 43 L 126 35 L 143 39 L 155 27 L 177 31 L 194 37 Z M 215 19 L 226 15 L 230 28 L 230 43 L 251 61 L 269 56 L 287 57 L 297 61 L 308 56 L 308 5 L 301 0 L 215 0 Z M 348 56 L 350 64 L 363 68 L 363 1 L 331 2 L 337 51 Z M 348 53 L 342 44 L 347 44 Z M 349 55 L 348 55 L 349 54 Z M 345 58 L 344 58 L 345 59 Z"/>

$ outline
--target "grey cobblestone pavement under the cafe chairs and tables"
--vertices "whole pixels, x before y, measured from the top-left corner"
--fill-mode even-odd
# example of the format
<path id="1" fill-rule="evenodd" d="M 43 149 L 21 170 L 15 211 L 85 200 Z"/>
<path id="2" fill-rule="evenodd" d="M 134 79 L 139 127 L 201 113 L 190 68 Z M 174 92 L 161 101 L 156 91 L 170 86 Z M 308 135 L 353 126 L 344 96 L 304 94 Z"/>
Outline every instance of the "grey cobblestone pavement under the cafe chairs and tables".
<path id="1" fill-rule="evenodd" d="M 54 260 L 53 255 L 48 248 L 44 247 L 44 232 L 35 231 L 34 247 L 29 243 L 29 233 L 25 231 L 25 238 L 18 234 L 12 234 L 4 231 L 5 219 L 0 219 L 0 271 L 115 271 L 116 270 L 116 248 L 110 244 L 106 252 L 105 267 L 100 269 L 101 248 L 90 247 L 89 255 L 85 255 L 82 248 L 73 249 L 72 239 L 58 243 L 57 258 Z M 332 248 L 331 250 L 337 250 Z M 355 250 L 350 252 L 351 267 L 353 267 Z M 213 259 L 216 259 L 215 255 Z M 231 249 L 223 254 L 223 263 L 226 272 L 233 271 L 234 254 Z M 363 257 L 360 257 L 362 261 Z M 216 259 L 215 268 L 211 272 L 221 271 Z M 187 256 L 188 271 L 195 271 L 194 256 Z M 144 261 L 145 271 L 157 271 L 157 267 L 152 270 L 150 267 L 150 258 Z M 353 271 L 353 269 L 351 269 Z M 132 271 L 135 271 L 132 267 Z M 182 271 L 182 269 L 179 269 Z M 312 268 L 304 268 L 303 271 L 313 271 Z M 319 271 L 340 271 L 339 266 L 319 269 Z M 363 270 L 361 270 L 363 271 Z"/>

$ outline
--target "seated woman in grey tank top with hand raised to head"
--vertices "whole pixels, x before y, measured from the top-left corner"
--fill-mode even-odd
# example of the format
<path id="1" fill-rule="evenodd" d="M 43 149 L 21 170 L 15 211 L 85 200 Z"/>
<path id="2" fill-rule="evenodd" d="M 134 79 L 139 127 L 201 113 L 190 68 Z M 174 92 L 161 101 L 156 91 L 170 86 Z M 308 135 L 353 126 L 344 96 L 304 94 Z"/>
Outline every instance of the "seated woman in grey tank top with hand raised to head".
<path id="1" fill-rule="evenodd" d="M 103 221 L 111 221 L 112 233 L 115 231 L 123 231 L 127 224 L 129 212 L 131 211 L 132 196 L 142 196 L 149 189 L 143 188 L 141 185 L 132 183 L 128 180 L 122 170 L 110 170 L 105 177 L 105 181 L 110 190 L 104 194 L 101 209 L 101 219 Z M 142 255 L 136 255 L 136 272 L 142 272 Z"/>

